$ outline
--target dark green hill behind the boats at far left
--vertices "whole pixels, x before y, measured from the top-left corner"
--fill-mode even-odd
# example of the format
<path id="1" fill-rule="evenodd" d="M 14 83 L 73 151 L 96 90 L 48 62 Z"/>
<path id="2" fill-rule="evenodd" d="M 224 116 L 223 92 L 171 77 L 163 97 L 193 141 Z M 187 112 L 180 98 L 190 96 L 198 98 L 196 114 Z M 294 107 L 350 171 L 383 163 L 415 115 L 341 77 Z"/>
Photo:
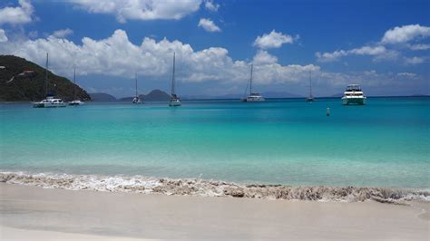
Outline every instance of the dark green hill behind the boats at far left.
<path id="1" fill-rule="evenodd" d="M 0 55 L 0 101 L 41 101 L 45 98 L 44 67 L 13 55 Z M 90 95 L 70 80 L 48 71 L 48 92 L 73 100 L 91 101 Z"/>

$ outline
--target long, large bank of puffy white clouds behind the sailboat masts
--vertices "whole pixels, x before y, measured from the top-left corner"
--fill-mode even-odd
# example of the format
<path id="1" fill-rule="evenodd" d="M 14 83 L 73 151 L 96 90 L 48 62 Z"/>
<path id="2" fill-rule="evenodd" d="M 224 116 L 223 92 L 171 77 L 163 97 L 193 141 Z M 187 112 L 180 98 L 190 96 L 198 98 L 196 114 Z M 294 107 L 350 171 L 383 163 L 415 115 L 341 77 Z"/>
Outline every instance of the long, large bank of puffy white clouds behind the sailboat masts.
<path id="1" fill-rule="evenodd" d="M 144 38 L 140 45 L 131 43 L 123 30 L 112 36 L 94 40 L 84 37 L 82 44 L 49 36 L 35 40 L 6 42 L 0 44 L 0 53 L 14 54 L 35 63 L 44 64 L 50 53 L 50 66 L 59 74 L 70 74 L 73 67 L 79 74 L 101 74 L 132 78 L 140 76 L 165 80 L 171 74 L 171 58 L 176 53 L 177 77 L 181 82 L 221 82 L 244 84 L 249 79 L 249 63 L 233 61 L 229 51 L 210 47 L 200 51 L 190 44 L 163 39 L 159 42 Z M 316 65 L 281 65 L 276 57 L 263 51 L 254 58 L 256 84 L 273 82 L 300 82 L 308 71 L 318 72 Z"/>

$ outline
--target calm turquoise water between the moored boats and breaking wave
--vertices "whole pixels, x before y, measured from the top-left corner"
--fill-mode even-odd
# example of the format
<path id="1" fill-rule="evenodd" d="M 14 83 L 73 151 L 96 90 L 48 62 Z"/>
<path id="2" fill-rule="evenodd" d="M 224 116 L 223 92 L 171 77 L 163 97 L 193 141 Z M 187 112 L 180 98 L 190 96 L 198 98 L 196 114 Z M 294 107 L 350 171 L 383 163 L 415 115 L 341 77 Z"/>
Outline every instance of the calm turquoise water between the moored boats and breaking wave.
<path id="1" fill-rule="evenodd" d="M 1 104 L 0 169 L 430 188 L 430 98 L 367 103 Z"/>

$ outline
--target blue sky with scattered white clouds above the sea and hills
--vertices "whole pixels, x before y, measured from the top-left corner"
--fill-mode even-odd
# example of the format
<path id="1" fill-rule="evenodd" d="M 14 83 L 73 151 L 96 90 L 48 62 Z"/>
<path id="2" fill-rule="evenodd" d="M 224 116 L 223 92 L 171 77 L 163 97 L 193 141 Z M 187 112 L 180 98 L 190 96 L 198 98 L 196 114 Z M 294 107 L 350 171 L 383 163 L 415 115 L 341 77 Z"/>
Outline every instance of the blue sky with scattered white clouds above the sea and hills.
<path id="1" fill-rule="evenodd" d="M 87 92 L 430 94 L 430 0 L 2 0 L 0 54 Z"/>

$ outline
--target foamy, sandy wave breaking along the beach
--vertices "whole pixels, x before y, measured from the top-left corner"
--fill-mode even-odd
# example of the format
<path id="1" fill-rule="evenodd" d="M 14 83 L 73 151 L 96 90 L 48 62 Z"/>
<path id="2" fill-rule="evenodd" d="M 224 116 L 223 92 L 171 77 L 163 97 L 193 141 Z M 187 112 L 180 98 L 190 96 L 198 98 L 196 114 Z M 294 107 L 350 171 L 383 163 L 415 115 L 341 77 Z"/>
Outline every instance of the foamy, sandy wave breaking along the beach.
<path id="1" fill-rule="evenodd" d="M 406 188 L 334 188 L 326 186 L 238 184 L 200 178 L 150 178 L 142 176 L 99 176 L 70 174 L 30 174 L 0 172 L 0 182 L 109 192 L 161 193 L 200 197 L 265 198 L 286 200 L 317 200 L 357 202 L 375 200 L 401 203 L 410 200 L 430 201 L 430 191 Z"/>

